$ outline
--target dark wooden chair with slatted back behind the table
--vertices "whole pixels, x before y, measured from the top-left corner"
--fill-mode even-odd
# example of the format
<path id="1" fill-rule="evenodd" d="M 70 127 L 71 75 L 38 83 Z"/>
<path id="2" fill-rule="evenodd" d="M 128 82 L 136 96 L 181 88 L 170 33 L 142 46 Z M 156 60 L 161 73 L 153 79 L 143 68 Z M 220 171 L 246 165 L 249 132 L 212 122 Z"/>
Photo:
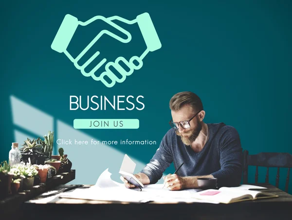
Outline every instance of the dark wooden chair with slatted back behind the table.
<path id="1" fill-rule="evenodd" d="M 290 168 L 292 168 L 292 155 L 290 153 L 261 152 L 249 155 L 248 151 L 243 151 L 243 184 L 247 184 L 248 166 L 256 166 L 256 183 L 258 181 L 258 167 L 266 167 L 266 183 L 269 183 L 269 167 L 276 167 L 276 187 L 279 187 L 280 168 L 288 168 L 286 177 L 285 192 L 288 193 Z"/>

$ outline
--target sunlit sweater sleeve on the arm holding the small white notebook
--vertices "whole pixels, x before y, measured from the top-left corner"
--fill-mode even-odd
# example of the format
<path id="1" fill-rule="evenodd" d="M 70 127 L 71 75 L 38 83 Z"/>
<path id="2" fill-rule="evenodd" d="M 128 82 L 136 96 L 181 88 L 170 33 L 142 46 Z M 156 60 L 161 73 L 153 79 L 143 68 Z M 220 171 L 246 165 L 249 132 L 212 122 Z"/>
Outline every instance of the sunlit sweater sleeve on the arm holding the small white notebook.
<path id="1" fill-rule="evenodd" d="M 168 142 L 166 134 L 150 162 L 140 171 L 148 176 L 150 184 L 157 183 L 162 177 L 164 170 L 172 163 L 172 153 Z"/>

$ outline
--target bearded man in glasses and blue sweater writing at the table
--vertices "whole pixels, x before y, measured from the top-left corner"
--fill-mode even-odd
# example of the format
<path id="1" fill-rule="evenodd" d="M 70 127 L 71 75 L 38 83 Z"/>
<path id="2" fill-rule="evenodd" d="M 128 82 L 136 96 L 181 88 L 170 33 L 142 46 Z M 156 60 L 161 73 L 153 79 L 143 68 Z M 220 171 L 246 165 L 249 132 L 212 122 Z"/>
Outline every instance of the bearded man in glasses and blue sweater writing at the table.
<path id="1" fill-rule="evenodd" d="M 170 102 L 172 127 L 153 158 L 135 174 L 144 184 L 155 184 L 173 162 L 176 174 L 164 176 L 169 190 L 197 188 L 197 179 L 218 179 L 218 186 L 238 186 L 242 173 L 242 148 L 237 130 L 224 123 L 204 123 L 201 99 L 192 92 L 175 94 Z M 135 187 L 121 178 L 126 187 Z"/>

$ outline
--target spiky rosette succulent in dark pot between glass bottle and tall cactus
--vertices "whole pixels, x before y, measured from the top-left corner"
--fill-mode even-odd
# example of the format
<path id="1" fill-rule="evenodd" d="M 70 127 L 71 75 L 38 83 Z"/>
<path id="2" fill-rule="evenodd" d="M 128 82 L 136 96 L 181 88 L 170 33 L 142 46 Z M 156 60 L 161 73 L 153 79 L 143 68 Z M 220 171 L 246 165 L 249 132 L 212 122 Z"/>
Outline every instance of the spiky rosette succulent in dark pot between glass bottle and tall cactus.
<path id="1" fill-rule="evenodd" d="M 20 149 L 21 161 L 28 163 L 28 158 L 31 159 L 32 164 L 44 164 L 46 156 L 44 154 L 45 142 L 39 137 L 35 140 L 27 138 Z"/>

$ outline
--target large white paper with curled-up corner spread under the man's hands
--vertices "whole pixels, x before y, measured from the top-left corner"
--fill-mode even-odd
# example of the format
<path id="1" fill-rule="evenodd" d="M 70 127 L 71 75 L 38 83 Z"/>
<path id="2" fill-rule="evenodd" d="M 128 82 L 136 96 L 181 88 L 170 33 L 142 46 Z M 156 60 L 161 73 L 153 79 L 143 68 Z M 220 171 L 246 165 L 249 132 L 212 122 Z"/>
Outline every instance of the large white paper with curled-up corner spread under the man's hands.
<path id="1" fill-rule="evenodd" d="M 192 198 L 192 195 L 199 189 L 187 189 L 181 191 L 171 191 L 163 188 L 163 184 L 146 185 L 142 191 L 138 189 L 128 189 L 124 184 L 115 182 L 110 178 L 111 173 L 106 169 L 98 178 L 96 184 L 88 189 L 75 189 L 73 192 L 61 193 L 62 198 L 120 201 L 144 203 L 148 201 L 157 202 L 206 202 Z"/>

